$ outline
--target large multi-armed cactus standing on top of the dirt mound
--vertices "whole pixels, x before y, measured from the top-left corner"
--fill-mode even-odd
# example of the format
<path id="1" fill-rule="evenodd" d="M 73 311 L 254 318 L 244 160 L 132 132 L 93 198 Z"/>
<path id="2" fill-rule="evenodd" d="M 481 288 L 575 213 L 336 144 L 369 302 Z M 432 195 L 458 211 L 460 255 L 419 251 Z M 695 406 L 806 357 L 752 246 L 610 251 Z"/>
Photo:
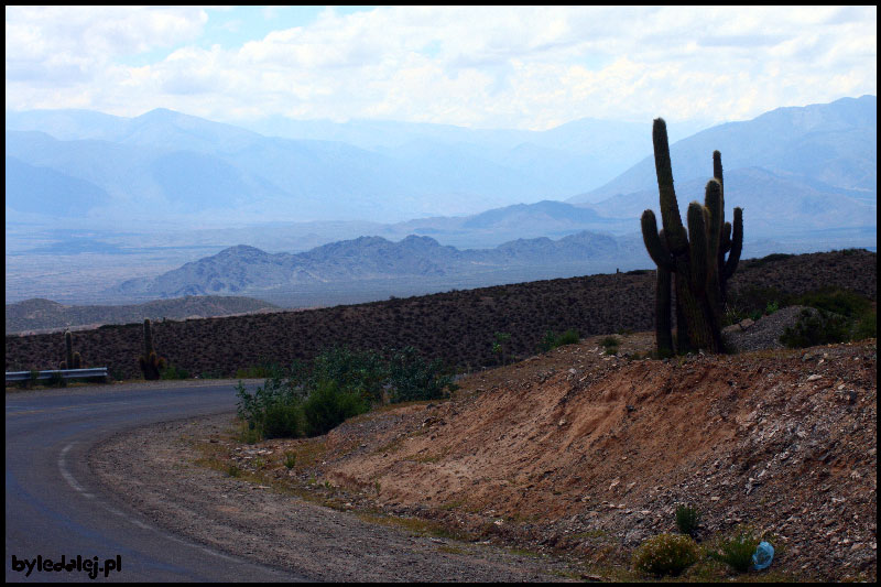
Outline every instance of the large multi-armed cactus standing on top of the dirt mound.
<path id="1" fill-rule="evenodd" d="M 735 273 L 743 247 L 743 210 L 735 208 L 735 222 L 725 221 L 721 154 L 713 153 L 714 178 L 707 182 L 704 205 L 688 205 L 682 224 L 673 187 L 673 167 L 666 123 L 659 118 L 652 130 L 662 230 L 652 210 L 642 214 L 642 238 L 657 264 L 655 339 L 657 352 L 674 352 L 671 331 L 671 273 L 675 274 L 676 351 L 722 351 L 721 317 L 726 285 Z M 728 258 L 726 259 L 726 254 Z"/>

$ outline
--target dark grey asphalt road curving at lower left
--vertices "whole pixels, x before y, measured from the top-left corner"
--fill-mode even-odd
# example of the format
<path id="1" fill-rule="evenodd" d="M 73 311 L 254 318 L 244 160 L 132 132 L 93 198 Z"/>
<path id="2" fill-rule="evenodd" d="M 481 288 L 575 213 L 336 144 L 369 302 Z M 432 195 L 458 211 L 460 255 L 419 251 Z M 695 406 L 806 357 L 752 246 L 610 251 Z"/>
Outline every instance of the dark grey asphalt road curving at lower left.
<path id="1" fill-rule="evenodd" d="M 231 383 L 68 388 L 7 393 L 6 401 L 7 581 L 88 581 L 96 557 L 96 580 L 307 580 L 155 528 L 90 477 L 95 444 L 145 424 L 231 412 Z M 47 559 L 58 570 L 45 570 Z"/>

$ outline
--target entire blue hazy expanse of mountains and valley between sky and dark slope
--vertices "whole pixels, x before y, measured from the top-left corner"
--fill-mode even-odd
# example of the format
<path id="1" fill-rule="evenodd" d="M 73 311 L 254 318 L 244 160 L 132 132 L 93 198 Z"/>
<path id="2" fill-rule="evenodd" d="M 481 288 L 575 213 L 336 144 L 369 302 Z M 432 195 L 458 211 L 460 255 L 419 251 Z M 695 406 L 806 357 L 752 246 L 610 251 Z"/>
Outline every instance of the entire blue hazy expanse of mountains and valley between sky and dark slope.
<path id="1" fill-rule="evenodd" d="M 651 121 L 544 132 L 287 119 L 254 128 L 276 135 L 164 109 L 7 112 L 7 297 L 10 283 L 12 298 L 54 297 L 59 279 L 95 262 L 123 279 L 148 273 L 132 272 L 138 259 L 165 270 L 214 252 L 109 289 L 113 280 L 75 280 L 67 300 L 308 286 L 313 305 L 323 284 L 396 280 L 372 291 L 379 298 L 652 267 L 639 232 L 642 211 L 659 211 Z M 877 246 L 874 96 L 779 108 L 679 140 L 676 129 L 681 210 L 703 200 L 718 149 L 727 216 L 744 209 L 744 254 Z M 237 242 L 247 247 L 228 248 Z M 335 300 L 367 295 L 341 290 Z"/>

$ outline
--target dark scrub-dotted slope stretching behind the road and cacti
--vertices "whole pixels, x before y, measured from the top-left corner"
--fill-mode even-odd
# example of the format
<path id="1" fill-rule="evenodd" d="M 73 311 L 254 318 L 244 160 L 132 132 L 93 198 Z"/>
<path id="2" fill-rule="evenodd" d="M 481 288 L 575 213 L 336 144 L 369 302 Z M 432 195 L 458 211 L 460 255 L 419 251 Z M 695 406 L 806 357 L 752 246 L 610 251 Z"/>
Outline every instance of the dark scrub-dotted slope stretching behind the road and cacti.
<path id="1" fill-rule="evenodd" d="M 751 311 L 750 292 L 800 295 L 822 286 L 845 287 L 874 300 L 875 253 L 860 250 L 772 256 L 742 261 L 731 280 L 739 309 Z M 765 294 L 762 294 L 766 296 Z M 763 298 L 763 297 L 762 297 Z M 761 308 L 765 304 L 762 302 Z M 140 322 L 140 320 L 139 320 Z M 153 325 L 157 351 L 192 373 L 235 377 L 265 362 L 311 359 L 335 345 L 356 349 L 412 345 L 427 358 L 470 371 L 498 365 L 497 331 L 511 335 L 505 355 L 529 357 L 547 330 L 575 329 L 583 337 L 648 330 L 654 322 L 654 272 L 587 275 L 389 300 L 305 312 L 161 322 Z M 137 378 L 141 324 L 104 326 L 74 335 L 89 366 Z M 59 334 L 7 336 L 7 371 L 56 367 L 64 357 Z"/>

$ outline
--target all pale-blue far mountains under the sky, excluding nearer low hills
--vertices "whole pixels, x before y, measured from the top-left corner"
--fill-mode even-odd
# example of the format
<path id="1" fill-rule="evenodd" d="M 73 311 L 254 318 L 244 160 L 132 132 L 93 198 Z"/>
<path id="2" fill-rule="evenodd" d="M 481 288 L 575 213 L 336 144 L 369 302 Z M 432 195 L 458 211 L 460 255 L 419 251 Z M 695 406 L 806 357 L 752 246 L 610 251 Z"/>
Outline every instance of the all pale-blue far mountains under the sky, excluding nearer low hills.
<path id="1" fill-rule="evenodd" d="M 874 225 L 877 105 L 874 96 L 842 98 L 779 108 L 678 141 L 674 133 L 679 198 L 703 198 L 718 149 L 727 202 L 747 209 L 753 229 L 780 228 L 781 221 L 796 228 Z M 597 230 L 657 204 L 650 121 L 585 119 L 544 132 L 286 119 L 260 128 L 287 138 L 165 109 L 137 118 L 7 112 L 8 216 L 241 225 L 420 217 L 444 224 L 442 217 L 481 215 L 457 228 L 479 231 L 500 214 L 512 229 L 533 227 L 533 210 L 522 206 L 568 198 L 595 213 L 577 213 L 580 220 L 567 222 L 572 229 Z M 496 211 L 512 205 L 521 206 L 519 225 L 512 210 Z M 443 230 L 421 224 L 416 228 Z"/>

